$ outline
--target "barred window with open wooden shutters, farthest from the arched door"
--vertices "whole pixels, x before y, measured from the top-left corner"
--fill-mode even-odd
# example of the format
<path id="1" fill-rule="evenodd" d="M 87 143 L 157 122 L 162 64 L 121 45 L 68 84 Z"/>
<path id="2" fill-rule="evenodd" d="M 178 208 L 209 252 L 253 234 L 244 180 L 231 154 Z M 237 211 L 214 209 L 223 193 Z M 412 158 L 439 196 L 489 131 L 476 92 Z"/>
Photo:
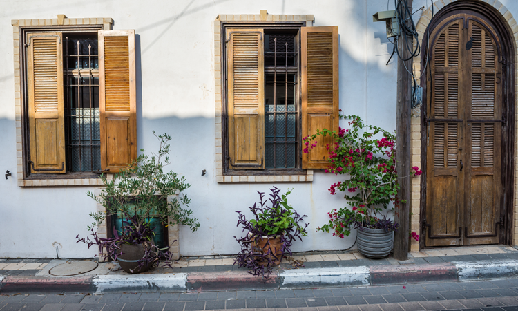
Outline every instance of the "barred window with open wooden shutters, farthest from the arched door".
<path id="1" fill-rule="evenodd" d="M 137 158 L 135 30 L 20 28 L 24 178 L 94 178 Z"/>

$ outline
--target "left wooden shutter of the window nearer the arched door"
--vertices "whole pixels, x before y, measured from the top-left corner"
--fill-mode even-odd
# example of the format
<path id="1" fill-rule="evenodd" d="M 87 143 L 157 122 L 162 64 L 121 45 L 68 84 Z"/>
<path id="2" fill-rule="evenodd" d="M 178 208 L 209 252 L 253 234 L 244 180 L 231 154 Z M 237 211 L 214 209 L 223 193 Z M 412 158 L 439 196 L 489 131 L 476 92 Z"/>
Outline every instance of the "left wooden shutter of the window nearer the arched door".
<path id="1" fill-rule="evenodd" d="M 262 29 L 229 29 L 229 169 L 265 168 L 265 68 Z"/>

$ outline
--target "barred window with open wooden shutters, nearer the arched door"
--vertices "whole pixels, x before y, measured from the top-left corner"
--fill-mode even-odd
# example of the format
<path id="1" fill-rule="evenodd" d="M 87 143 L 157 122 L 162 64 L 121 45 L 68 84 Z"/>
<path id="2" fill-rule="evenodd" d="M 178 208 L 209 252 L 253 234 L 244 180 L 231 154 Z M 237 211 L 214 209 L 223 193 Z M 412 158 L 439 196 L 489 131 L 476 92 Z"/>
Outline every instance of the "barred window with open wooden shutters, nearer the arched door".
<path id="1" fill-rule="evenodd" d="M 224 174 L 297 174 L 329 167 L 338 131 L 338 27 L 222 23 Z"/>

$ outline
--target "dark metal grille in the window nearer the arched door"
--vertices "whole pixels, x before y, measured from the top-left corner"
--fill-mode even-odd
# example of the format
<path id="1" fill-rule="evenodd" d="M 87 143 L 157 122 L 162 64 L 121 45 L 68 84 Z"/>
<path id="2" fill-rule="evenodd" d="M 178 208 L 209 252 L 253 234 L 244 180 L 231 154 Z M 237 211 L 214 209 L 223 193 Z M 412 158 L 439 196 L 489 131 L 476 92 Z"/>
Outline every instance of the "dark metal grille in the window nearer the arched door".
<path id="1" fill-rule="evenodd" d="M 265 34 L 265 167 L 298 166 L 298 47 L 294 33 Z"/>

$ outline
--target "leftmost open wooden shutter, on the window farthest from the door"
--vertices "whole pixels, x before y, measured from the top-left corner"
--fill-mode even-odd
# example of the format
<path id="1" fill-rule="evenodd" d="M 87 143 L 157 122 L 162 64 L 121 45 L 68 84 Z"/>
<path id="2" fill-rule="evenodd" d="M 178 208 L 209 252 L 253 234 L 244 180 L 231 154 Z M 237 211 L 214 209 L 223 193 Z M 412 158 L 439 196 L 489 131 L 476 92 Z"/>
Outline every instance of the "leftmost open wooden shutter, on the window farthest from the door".
<path id="1" fill-rule="evenodd" d="M 28 35 L 30 172 L 65 173 L 61 32 Z"/>

